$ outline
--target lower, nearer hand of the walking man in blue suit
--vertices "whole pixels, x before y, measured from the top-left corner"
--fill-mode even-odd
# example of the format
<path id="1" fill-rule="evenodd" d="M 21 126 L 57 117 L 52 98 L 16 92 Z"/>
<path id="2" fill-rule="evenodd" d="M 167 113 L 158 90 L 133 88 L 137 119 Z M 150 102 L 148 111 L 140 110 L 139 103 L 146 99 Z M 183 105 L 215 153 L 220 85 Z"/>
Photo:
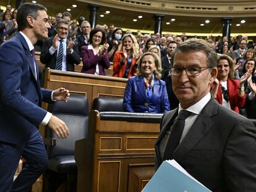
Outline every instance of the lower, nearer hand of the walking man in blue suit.
<path id="1" fill-rule="evenodd" d="M 51 116 L 47 125 L 54 131 L 58 138 L 64 139 L 69 135 L 69 128 L 67 128 L 66 123 L 54 115 Z"/>

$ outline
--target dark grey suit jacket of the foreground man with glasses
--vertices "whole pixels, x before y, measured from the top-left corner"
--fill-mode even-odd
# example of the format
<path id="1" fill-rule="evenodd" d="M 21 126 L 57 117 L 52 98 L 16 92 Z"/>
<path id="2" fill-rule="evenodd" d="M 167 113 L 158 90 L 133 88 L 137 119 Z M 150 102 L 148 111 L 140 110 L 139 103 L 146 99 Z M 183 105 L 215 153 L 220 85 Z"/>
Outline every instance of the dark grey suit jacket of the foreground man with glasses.
<path id="1" fill-rule="evenodd" d="M 156 140 L 156 168 L 163 162 L 160 141 L 177 109 L 161 120 Z M 213 192 L 254 192 L 256 189 L 256 129 L 252 122 L 211 98 L 176 148 L 175 159 Z"/>

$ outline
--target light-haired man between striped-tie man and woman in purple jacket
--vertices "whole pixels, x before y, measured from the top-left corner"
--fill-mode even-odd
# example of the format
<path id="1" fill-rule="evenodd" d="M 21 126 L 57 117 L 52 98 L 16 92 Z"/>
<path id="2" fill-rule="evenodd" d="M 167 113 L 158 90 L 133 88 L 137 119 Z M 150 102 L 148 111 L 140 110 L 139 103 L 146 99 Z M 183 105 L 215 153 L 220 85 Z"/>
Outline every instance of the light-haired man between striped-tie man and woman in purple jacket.
<path id="1" fill-rule="evenodd" d="M 89 38 L 90 38 L 90 31 L 91 31 L 91 25 L 90 23 L 85 20 L 81 23 L 81 29 L 82 34 L 77 36 L 77 39 L 75 40 L 79 47 L 79 54 L 81 52 L 82 46 L 87 46 L 89 44 Z"/>

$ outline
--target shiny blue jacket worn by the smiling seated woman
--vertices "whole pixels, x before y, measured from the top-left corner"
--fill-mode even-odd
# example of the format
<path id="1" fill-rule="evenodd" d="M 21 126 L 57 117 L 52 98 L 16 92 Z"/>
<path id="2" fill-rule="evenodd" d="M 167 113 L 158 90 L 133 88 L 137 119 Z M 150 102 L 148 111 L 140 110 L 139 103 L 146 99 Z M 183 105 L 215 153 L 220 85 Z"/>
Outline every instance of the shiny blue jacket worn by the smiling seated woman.
<path id="1" fill-rule="evenodd" d="M 169 111 L 165 82 L 154 80 L 153 96 L 147 99 L 145 81 L 142 76 L 130 77 L 124 91 L 124 111 L 164 113 Z"/>

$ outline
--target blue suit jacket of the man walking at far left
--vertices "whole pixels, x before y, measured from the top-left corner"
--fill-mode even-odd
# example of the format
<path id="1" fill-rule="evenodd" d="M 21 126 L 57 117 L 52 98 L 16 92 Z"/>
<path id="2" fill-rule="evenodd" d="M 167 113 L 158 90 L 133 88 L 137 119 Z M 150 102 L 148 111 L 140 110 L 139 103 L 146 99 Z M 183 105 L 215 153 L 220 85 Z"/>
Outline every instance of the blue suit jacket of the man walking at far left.
<path id="1" fill-rule="evenodd" d="M 0 47 L 0 141 L 24 144 L 46 115 L 42 101 L 51 90 L 40 88 L 25 38 L 20 33 Z"/>

